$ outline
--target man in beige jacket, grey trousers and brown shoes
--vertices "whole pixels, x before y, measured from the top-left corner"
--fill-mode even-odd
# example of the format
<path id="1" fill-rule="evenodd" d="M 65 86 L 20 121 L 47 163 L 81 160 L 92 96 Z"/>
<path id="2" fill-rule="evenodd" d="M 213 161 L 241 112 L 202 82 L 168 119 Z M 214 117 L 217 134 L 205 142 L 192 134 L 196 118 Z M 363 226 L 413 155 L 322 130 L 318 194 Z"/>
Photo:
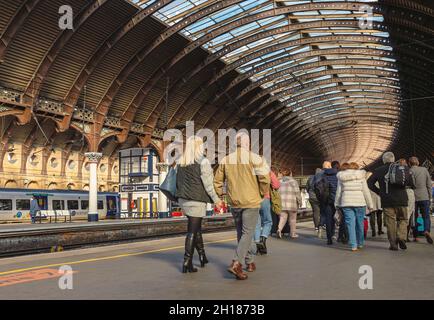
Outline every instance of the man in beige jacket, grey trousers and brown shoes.
<path id="1" fill-rule="evenodd" d="M 247 279 L 243 272 L 243 263 L 247 271 L 256 269 L 254 257 L 256 247 L 253 235 L 259 217 L 259 208 L 263 198 L 269 193 L 270 170 L 265 160 L 250 151 L 249 136 L 237 135 L 237 149 L 219 164 L 214 177 L 217 195 L 223 194 L 223 184 L 227 183 L 227 195 L 232 207 L 238 246 L 228 271 L 237 279 Z"/>

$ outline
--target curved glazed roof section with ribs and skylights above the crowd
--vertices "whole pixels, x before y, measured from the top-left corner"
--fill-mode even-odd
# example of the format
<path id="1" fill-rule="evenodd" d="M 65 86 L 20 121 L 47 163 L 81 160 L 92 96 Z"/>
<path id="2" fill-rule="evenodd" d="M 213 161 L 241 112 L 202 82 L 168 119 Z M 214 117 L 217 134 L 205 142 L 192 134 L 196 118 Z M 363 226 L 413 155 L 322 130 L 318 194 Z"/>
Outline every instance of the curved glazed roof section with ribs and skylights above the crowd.
<path id="1" fill-rule="evenodd" d="M 227 66 L 209 85 L 236 70 L 226 90 L 252 83 L 235 101 L 263 89 L 241 109 L 272 125 L 281 152 L 289 138 L 311 138 L 325 158 L 369 164 L 396 135 L 400 83 L 377 1 L 176 0 L 154 17 L 192 40 L 184 52 L 211 53 L 187 79 L 220 59 Z"/>

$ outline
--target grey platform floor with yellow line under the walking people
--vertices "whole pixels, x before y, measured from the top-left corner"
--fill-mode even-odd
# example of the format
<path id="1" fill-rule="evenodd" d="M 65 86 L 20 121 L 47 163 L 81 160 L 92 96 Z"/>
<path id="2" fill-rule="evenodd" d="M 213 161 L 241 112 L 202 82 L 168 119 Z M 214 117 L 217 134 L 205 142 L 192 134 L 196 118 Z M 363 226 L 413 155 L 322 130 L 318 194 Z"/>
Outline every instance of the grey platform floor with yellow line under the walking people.
<path id="1" fill-rule="evenodd" d="M 257 271 L 237 281 L 226 271 L 235 232 L 205 234 L 210 264 L 180 272 L 183 237 L 0 260 L 0 299 L 434 299 L 434 246 L 421 239 L 392 252 L 384 236 L 353 253 L 327 246 L 311 223 L 300 238 L 269 240 Z M 195 256 L 195 264 L 198 264 Z M 58 269 L 69 265 L 73 289 L 59 288 Z M 373 271 L 373 289 L 359 287 L 361 266 Z"/>

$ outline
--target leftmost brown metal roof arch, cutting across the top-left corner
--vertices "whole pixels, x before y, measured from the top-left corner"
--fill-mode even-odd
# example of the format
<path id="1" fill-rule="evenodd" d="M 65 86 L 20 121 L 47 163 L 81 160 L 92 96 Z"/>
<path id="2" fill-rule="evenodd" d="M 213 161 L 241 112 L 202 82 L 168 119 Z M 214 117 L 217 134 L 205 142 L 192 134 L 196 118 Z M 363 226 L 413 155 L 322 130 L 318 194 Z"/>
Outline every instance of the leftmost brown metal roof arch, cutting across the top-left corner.
<path id="1" fill-rule="evenodd" d="M 17 32 L 24 25 L 39 2 L 40 0 L 25 0 L 13 18 L 8 22 L 3 33 L 0 35 L 0 63 L 3 62 L 9 44 L 13 41 Z"/>

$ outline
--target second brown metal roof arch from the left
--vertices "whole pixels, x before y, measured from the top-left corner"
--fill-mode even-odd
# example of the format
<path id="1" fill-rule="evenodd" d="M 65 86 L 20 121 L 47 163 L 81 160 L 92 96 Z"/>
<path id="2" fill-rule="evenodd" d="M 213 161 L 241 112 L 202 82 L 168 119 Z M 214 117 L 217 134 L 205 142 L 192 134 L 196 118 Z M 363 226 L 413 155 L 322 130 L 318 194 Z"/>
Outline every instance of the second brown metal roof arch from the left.
<path id="1" fill-rule="evenodd" d="M 76 17 L 74 17 L 74 30 L 60 31 L 56 40 L 51 44 L 50 49 L 45 53 L 44 58 L 38 66 L 38 69 L 33 74 L 32 79 L 29 81 L 26 89 L 24 90 L 23 99 L 27 103 L 34 105 L 35 100 L 39 96 L 42 84 L 44 83 L 51 66 L 54 64 L 59 53 L 67 45 L 69 40 L 76 34 L 76 32 L 83 26 L 83 24 L 93 16 L 108 0 L 94 0 L 89 2 Z"/>

